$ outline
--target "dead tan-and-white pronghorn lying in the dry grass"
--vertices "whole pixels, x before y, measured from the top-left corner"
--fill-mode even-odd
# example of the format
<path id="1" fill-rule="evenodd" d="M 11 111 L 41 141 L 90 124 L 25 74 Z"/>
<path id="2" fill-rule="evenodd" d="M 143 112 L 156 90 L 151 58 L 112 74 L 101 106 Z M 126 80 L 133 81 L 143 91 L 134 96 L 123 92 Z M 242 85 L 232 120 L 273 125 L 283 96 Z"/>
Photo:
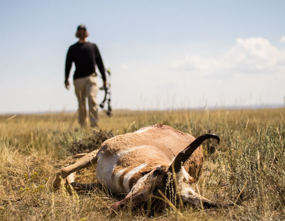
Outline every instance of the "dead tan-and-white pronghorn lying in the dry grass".
<path id="1" fill-rule="evenodd" d="M 217 207 L 218 203 L 197 194 L 190 186 L 201 174 L 203 152 L 200 144 L 208 138 L 220 141 L 216 134 L 206 133 L 195 139 L 161 124 L 117 135 L 103 142 L 99 150 L 60 169 L 53 187 L 60 186 L 60 177 L 66 178 L 74 187 L 96 186 L 98 183 L 75 182 L 75 172 L 97 164 L 96 179 L 99 184 L 112 194 L 126 194 L 123 200 L 112 206 L 115 210 L 127 202 L 132 206 L 146 204 L 150 196 L 162 197 L 165 194 L 171 197 L 170 182 L 172 189 L 175 189 L 174 194 L 179 196 L 175 197 L 177 202 L 179 199 L 196 207 Z"/>

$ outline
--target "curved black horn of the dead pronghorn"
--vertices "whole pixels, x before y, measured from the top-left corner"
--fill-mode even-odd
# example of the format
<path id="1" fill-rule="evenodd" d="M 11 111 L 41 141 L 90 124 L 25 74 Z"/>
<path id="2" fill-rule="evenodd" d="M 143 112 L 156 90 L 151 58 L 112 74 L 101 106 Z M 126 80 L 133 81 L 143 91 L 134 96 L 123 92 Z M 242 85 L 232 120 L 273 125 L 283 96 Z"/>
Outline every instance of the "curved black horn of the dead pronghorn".
<path id="1" fill-rule="evenodd" d="M 199 145 L 202 144 L 203 141 L 209 138 L 215 138 L 217 139 L 218 143 L 220 142 L 220 137 L 214 133 L 205 133 L 199 136 L 176 156 L 176 158 L 170 165 L 168 171 L 172 172 L 173 167 L 175 173 L 179 172 L 181 169 L 181 165 L 183 165 L 191 157 L 193 152 L 198 148 Z"/>

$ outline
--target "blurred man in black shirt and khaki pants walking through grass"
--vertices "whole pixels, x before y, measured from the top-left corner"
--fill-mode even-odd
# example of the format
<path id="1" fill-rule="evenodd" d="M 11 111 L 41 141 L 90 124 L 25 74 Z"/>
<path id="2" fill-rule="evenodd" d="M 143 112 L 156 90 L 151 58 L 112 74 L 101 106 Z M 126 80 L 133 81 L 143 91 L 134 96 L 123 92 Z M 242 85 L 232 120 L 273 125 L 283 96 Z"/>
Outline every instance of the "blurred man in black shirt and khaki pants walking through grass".
<path id="1" fill-rule="evenodd" d="M 72 62 L 74 61 L 76 70 L 74 72 L 73 79 L 75 94 L 79 104 L 79 123 L 81 126 L 86 126 L 87 97 L 91 127 L 96 127 L 98 122 L 98 105 L 96 103 L 98 85 L 95 65 L 97 64 L 98 69 L 100 70 L 104 86 L 107 85 L 105 67 L 97 45 L 88 42 L 88 32 L 84 25 L 78 26 L 76 37 L 79 38 L 79 41 L 69 47 L 66 55 L 64 84 L 65 88 L 69 89 L 69 71 L 72 66 Z"/>

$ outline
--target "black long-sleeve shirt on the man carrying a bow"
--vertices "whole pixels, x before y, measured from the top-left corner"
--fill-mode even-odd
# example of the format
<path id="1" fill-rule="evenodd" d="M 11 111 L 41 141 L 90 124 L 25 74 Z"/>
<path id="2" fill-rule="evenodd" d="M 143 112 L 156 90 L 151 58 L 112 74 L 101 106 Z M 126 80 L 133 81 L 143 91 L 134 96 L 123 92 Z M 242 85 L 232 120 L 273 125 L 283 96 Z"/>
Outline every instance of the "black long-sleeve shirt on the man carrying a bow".
<path id="1" fill-rule="evenodd" d="M 75 62 L 76 70 L 73 79 L 83 78 L 95 72 L 97 64 L 103 81 L 106 81 L 105 67 L 96 44 L 75 43 L 69 47 L 65 62 L 65 79 L 68 79 L 72 62 Z"/>

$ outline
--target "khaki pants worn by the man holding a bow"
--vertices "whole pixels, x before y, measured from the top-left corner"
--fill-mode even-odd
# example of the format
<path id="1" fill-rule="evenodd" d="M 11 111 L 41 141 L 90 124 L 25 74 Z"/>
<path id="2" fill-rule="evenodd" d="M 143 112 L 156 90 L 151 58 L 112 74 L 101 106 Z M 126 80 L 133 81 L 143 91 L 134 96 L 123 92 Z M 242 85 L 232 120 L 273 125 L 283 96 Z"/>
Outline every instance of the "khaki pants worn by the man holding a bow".
<path id="1" fill-rule="evenodd" d="M 75 94 L 78 99 L 78 120 L 81 126 L 87 125 L 86 97 L 88 98 L 89 118 L 91 127 L 97 126 L 98 105 L 96 97 L 98 92 L 97 77 L 93 75 L 74 80 Z"/>

